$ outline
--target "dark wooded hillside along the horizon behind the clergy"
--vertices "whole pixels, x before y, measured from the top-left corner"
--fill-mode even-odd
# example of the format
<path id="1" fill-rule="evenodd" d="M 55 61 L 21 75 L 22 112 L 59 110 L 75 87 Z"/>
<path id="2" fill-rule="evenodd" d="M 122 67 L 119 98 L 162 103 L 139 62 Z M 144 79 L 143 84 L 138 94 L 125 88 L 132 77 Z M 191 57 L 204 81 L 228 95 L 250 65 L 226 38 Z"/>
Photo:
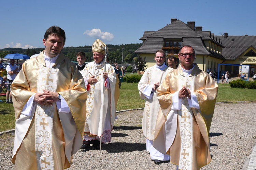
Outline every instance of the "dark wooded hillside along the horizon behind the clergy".
<path id="1" fill-rule="evenodd" d="M 137 44 L 122 44 L 122 45 L 106 45 L 108 47 L 108 57 L 109 63 L 122 63 L 122 55 L 123 55 L 123 65 L 132 64 L 133 58 L 137 57 L 137 54 L 133 52 L 137 50 L 142 43 Z M 0 58 L 4 58 L 7 54 L 26 54 L 28 56 L 32 56 L 34 54 L 38 54 L 43 51 L 44 48 L 34 48 L 34 49 L 22 49 L 22 48 L 4 48 L 0 50 Z M 65 54 L 71 61 L 76 61 L 76 53 L 79 51 L 83 51 L 86 55 L 86 62 L 93 61 L 93 53 L 91 50 L 91 46 L 79 46 L 79 47 L 64 47 L 62 49 L 62 53 Z"/>

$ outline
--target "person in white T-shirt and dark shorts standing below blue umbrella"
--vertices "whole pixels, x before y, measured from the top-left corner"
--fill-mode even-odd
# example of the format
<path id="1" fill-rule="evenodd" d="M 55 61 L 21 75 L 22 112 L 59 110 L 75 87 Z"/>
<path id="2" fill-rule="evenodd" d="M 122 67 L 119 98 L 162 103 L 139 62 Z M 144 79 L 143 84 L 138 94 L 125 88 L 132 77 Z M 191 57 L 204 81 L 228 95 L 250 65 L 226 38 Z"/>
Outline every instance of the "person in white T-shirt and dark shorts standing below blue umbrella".
<path id="1" fill-rule="evenodd" d="M 6 103 L 12 103 L 12 93 L 11 93 L 11 84 L 13 80 L 16 78 L 18 74 L 18 67 L 14 64 L 15 60 L 10 59 L 10 64 L 6 66 L 6 72 L 7 72 L 7 91 L 6 91 Z"/>

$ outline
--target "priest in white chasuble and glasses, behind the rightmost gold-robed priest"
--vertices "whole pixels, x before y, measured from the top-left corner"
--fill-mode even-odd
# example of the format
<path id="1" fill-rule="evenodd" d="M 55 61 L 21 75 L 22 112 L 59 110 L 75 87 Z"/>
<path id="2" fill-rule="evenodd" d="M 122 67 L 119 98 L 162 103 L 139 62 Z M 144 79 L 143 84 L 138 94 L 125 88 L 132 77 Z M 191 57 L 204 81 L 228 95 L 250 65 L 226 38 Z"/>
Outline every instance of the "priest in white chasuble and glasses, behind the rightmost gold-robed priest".
<path id="1" fill-rule="evenodd" d="M 145 70 L 139 84 L 138 89 L 141 99 L 145 100 L 145 108 L 142 118 L 142 132 L 146 137 L 147 151 L 150 152 L 151 159 L 155 164 L 160 164 L 163 161 L 169 161 L 169 155 L 162 154 L 153 146 L 155 134 L 156 118 L 159 111 L 159 102 L 156 97 L 156 89 L 162 83 L 166 75 L 173 70 L 165 65 L 166 56 L 163 50 L 158 50 L 155 53 L 156 64 Z"/>

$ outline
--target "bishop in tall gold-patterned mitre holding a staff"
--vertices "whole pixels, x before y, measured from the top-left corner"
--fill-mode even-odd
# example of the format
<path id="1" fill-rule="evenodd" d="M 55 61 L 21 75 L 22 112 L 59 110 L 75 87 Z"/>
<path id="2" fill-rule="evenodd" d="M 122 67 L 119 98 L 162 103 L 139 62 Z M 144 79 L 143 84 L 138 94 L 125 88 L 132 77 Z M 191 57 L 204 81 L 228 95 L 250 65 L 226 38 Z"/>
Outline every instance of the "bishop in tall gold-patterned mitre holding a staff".
<path id="1" fill-rule="evenodd" d="M 86 123 L 81 149 L 98 149 L 102 143 L 111 142 L 119 88 L 116 73 L 105 58 L 106 45 L 97 39 L 92 46 L 94 61 L 88 63 L 82 75 L 87 88 Z M 119 96 L 118 96 L 119 97 Z"/>

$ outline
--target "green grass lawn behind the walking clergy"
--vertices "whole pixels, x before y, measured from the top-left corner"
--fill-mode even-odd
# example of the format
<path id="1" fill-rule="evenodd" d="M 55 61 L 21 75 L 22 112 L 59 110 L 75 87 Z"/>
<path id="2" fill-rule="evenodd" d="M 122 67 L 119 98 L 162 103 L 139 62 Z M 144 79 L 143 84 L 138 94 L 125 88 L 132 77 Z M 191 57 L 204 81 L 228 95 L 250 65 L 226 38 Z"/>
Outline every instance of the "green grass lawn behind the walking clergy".
<path id="1" fill-rule="evenodd" d="M 255 101 L 255 89 L 231 88 L 229 84 L 219 84 L 217 102 Z M 14 129 L 15 116 L 12 104 L 5 104 L 5 97 L 0 97 L 0 132 Z M 117 111 L 144 107 L 140 99 L 138 83 L 122 83 Z"/>

